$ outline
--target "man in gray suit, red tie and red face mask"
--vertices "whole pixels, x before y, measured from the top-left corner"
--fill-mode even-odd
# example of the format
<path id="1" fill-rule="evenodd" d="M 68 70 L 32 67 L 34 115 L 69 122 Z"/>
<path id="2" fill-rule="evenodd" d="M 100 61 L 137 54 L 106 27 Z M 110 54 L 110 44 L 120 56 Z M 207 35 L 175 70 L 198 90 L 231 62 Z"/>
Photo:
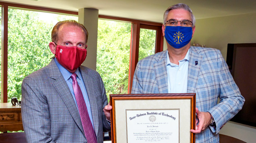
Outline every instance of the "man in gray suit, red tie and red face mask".
<path id="1" fill-rule="evenodd" d="M 88 31 L 76 21 L 60 21 L 51 38 L 49 47 L 55 57 L 22 82 L 27 141 L 102 143 L 103 131 L 110 131 L 111 107 L 106 106 L 100 75 L 80 66 L 87 54 Z"/>

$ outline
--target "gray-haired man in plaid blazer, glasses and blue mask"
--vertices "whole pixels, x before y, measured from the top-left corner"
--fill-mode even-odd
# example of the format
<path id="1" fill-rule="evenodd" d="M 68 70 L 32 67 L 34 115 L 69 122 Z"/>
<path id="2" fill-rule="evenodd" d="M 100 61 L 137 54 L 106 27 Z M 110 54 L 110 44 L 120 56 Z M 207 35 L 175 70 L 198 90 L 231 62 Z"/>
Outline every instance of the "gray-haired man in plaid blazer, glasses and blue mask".
<path id="1" fill-rule="evenodd" d="M 177 26 L 179 31 L 175 31 Z M 177 33 L 184 34 L 180 43 L 185 41 L 186 29 L 188 44 L 172 42 Z M 188 5 L 169 7 L 162 30 L 168 48 L 137 63 L 132 94 L 196 93 L 196 129 L 190 131 L 196 143 L 218 143 L 220 129 L 241 110 L 244 98 L 219 50 L 190 46 L 195 17 Z"/>

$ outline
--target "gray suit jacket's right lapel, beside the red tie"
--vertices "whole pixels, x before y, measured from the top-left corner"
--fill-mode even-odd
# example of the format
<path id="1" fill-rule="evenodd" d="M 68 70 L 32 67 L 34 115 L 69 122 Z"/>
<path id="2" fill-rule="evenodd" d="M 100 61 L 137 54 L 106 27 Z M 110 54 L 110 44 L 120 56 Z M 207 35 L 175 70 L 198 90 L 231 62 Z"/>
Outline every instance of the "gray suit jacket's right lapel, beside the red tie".
<path id="1" fill-rule="evenodd" d="M 82 75 L 83 81 L 85 83 L 85 88 L 88 94 L 88 98 L 90 101 L 90 108 L 92 111 L 92 115 L 93 115 L 93 126 L 94 126 L 94 130 L 95 130 L 95 134 L 96 136 L 98 135 L 98 130 L 99 130 L 99 119 L 98 119 L 98 108 L 97 108 L 97 103 L 95 101 L 95 94 L 94 94 L 94 90 L 93 90 L 93 79 L 88 76 L 88 71 L 86 70 L 85 67 L 80 66 L 80 73 Z M 102 109 L 103 112 L 103 109 Z"/>

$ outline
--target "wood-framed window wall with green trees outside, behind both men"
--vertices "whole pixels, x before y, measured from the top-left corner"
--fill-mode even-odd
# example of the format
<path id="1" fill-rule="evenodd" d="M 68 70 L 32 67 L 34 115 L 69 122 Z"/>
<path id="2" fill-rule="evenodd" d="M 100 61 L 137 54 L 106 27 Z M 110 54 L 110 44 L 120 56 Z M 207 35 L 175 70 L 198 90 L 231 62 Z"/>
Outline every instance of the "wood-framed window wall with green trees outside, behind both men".
<path id="1" fill-rule="evenodd" d="M 54 56 L 48 46 L 52 27 L 66 19 L 78 21 L 78 12 L 6 2 L 0 2 L 0 5 L 3 12 L 0 102 L 10 102 L 12 97 L 21 99 L 24 77 L 46 66 Z M 102 15 L 99 18 L 97 70 L 105 83 L 107 95 L 130 93 L 139 57 L 142 59 L 162 50 L 163 36 L 159 35 L 162 24 Z M 141 43 L 139 50 L 141 28 L 145 29 L 141 33 L 151 31 L 156 35 L 145 37 L 151 46 L 145 49 Z M 143 54 L 145 51 L 147 54 Z M 141 53 L 144 56 L 139 56 Z"/>

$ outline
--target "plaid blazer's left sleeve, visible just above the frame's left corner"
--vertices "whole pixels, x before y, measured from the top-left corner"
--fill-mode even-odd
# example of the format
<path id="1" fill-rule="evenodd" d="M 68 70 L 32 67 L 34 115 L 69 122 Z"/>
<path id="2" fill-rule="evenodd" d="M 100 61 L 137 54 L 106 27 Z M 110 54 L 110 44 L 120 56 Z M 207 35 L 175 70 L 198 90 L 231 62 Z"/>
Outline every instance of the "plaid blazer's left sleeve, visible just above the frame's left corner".
<path id="1" fill-rule="evenodd" d="M 131 94 L 142 94 L 142 87 L 141 87 L 141 69 L 140 69 L 140 61 L 137 63 L 134 76 L 133 76 L 133 81 L 132 81 L 132 92 Z"/>

